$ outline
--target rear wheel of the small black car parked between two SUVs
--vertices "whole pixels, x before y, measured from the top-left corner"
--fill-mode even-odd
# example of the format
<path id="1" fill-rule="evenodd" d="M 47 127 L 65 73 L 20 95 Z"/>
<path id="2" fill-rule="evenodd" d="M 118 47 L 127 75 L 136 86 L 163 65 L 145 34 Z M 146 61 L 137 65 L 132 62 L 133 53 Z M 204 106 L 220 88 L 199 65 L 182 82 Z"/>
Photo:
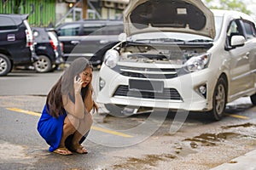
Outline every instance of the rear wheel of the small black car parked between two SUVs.
<path id="1" fill-rule="evenodd" d="M 33 65 L 37 72 L 49 72 L 52 69 L 50 59 L 44 55 L 39 55 L 38 60 Z"/>

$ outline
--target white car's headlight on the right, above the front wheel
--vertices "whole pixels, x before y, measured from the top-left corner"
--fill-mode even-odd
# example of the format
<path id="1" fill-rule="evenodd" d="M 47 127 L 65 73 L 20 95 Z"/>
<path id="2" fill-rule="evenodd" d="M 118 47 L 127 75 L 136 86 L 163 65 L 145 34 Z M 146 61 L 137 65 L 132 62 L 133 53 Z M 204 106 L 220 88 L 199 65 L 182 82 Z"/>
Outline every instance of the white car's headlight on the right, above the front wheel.
<path id="1" fill-rule="evenodd" d="M 188 72 L 201 71 L 207 68 L 211 54 L 201 54 L 191 57 L 185 64 L 184 70 Z"/>

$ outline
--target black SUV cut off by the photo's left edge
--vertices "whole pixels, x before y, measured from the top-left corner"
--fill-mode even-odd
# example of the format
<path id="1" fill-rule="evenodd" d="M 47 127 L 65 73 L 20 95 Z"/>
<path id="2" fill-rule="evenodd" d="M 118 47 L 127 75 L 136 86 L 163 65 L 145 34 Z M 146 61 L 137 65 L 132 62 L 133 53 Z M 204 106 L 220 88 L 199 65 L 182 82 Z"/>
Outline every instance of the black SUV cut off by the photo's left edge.
<path id="1" fill-rule="evenodd" d="M 28 14 L 0 14 L 0 76 L 14 65 L 29 65 L 37 59 Z"/>

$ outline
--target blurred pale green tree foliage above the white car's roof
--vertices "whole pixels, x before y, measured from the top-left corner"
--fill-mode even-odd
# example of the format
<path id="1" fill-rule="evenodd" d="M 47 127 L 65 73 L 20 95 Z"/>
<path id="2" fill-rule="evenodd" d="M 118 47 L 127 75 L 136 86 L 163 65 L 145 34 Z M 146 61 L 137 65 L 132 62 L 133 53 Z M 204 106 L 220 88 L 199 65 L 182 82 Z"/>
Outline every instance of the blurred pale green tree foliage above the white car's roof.
<path id="1" fill-rule="evenodd" d="M 208 8 L 226 9 L 241 11 L 245 14 L 252 14 L 252 11 L 247 10 L 246 4 L 241 0 L 203 0 Z M 218 3 L 218 5 L 216 5 Z"/>

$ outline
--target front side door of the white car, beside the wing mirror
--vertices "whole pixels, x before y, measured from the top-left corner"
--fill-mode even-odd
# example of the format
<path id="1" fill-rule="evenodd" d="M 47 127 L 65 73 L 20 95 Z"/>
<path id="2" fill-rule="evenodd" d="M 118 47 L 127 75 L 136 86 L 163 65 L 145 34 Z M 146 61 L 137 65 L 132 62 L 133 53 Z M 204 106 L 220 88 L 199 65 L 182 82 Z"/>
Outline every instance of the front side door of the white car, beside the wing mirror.
<path id="1" fill-rule="evenodd" d="M 244 36 L 241 20 L 232 20 L 227 32 L 228 42 L 235 35 Z M 244 36 L 245 37 L 245 36 Z M 252 88 L 254 80 L 252 79 L 250 67 L 250 49 L 252 44 L 245 42 L 242 47 L 231 48 L 230 53 L 230 95 L 233 98 L 241 97 L 247 89 Z"/>

